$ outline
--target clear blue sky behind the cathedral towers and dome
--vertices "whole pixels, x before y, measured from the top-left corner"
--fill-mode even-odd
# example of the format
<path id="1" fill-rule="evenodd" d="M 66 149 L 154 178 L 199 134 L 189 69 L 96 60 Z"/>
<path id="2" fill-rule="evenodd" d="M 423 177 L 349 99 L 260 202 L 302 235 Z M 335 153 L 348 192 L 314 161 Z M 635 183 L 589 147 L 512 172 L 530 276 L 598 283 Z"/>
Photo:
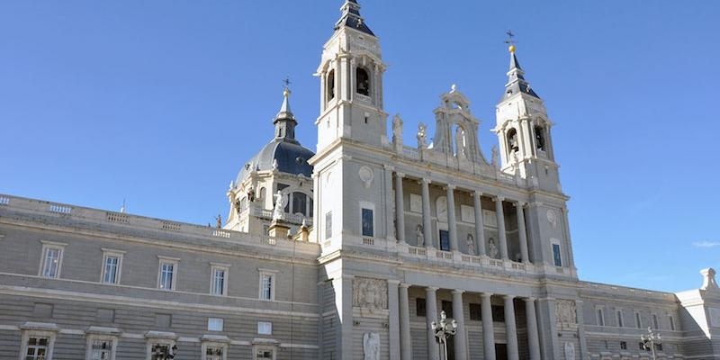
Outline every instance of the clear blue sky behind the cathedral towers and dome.
<path id="1" fill-rule="evenodd" d="M 360 1 L 385 110 L 433 131 L 457 84 L 497 139 L 505 31 L 545 99 L 581 279 L 698 288 L 720 268 L 720 3 Z M 273 135 L 282 80 L 315 148 L 312 76 L 340 0 L 0 3 L 0 193 L 205 224 Z"/>

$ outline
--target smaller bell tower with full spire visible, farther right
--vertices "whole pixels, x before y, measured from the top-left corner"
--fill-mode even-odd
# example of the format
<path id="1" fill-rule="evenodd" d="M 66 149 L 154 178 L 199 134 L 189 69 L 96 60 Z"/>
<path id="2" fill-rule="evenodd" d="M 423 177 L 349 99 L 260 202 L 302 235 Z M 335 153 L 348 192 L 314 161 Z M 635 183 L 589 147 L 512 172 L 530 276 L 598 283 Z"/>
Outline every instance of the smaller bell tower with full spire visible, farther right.
<path id="1" fill-rule="evenodd" d="M 548 119 L 545 103 L 525 79 L 515 45 L 509 52 L 508 84 L 496 106 L 497 125 L 493 129 L 500 143 L 500 169 L 518 173 L 533 187 L 562 192 L 550 135 L 553 122 Z"/>

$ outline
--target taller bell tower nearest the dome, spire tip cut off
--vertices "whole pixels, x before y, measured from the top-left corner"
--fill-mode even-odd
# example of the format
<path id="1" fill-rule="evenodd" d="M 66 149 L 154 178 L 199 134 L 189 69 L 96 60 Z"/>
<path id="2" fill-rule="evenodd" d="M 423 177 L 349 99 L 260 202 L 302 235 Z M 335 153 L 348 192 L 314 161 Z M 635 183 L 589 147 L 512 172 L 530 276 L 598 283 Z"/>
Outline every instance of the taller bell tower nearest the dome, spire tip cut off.
<path id="1" fill-rule="evenodd" d="M 346 0 L 340 10 L 316 73 L 320 77 L 319 152 L 338 138 L 370 145 L 388 141 L 380 42 L 360 16 L 355 0 Z"/>

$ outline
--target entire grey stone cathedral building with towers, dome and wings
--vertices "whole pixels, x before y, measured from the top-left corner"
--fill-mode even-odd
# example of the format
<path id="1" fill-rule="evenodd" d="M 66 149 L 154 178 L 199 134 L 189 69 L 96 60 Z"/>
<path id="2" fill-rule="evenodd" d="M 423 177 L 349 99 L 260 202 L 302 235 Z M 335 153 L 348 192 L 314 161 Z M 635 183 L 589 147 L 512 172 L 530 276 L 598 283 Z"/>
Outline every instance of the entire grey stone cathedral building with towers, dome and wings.
<path id="1" fill-rule="evenodd" d="M 356 1 L 341 13 L 316 151 L 286 88 L 224 224 L 0 195 L 0 358 L 720 358 L 713 269 L 683 293 L 578 278 L 553 121 L 514 47 L 489 156 L 455 86 L 406 142 L 378 38 Z"/>

